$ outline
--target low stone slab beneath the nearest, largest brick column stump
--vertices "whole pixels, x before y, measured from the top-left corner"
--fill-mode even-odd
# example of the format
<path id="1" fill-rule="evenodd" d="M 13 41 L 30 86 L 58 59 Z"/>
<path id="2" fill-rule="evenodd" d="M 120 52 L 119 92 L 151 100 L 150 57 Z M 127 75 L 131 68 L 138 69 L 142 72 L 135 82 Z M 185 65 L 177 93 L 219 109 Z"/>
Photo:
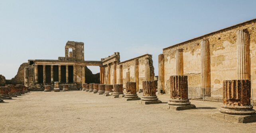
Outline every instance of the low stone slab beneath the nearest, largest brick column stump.
<path id="1" fill-rule="evenodd" d="M 252 115 L 232 115 L 232 114 L 223 114 L 221 112 L 216 112 L 211 116 L 213 119 L 222 120 L 225 122 L 231 123 L 250 123 L 256 122 L 256 114 Z"/>

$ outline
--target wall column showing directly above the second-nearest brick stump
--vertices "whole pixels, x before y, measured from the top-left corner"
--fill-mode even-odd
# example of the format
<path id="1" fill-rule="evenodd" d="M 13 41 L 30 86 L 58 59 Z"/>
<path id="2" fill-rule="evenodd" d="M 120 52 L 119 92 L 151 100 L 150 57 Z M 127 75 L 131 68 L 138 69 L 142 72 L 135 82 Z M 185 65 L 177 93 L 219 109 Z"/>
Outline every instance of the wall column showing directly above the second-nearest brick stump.
<path id="1" fill-rule="evenodd" d="M 176 75 L 183 75 L 183 49 L 176 50 Z"/>

